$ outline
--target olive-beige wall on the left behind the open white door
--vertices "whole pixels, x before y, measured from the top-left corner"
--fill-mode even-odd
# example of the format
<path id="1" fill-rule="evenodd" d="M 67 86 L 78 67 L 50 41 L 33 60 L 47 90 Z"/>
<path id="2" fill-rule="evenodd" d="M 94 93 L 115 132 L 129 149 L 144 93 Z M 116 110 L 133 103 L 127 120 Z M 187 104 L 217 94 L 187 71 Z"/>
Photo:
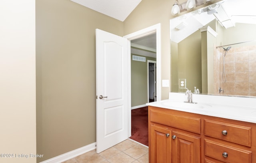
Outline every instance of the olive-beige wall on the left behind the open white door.
<path id="1" fill-rule="evenodd" d="M 36 0 L 36 130 L 41 162 L 96 142 L 95 29 L 123 22 L 70 0 Z"/>

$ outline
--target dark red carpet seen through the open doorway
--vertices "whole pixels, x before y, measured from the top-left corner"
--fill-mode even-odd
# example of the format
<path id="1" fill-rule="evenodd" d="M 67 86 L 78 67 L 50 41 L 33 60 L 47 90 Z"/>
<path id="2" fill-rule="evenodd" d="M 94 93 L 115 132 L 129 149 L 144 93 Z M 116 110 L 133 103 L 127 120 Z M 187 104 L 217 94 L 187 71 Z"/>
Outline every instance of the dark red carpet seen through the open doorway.
<path id="1" fill-rule="evenodd" d="M 148 107 L 132 109 L 132 136 L 130 139 L 148 146 Z"/>

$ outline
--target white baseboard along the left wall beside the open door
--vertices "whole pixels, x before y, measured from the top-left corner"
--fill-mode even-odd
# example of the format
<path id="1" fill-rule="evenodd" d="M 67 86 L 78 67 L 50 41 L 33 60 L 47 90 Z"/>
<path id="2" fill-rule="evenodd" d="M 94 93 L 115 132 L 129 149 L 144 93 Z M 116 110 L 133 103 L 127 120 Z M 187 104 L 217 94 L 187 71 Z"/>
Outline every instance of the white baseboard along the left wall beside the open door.
<path id="1" fill-rule="evenodd" d="M 75 149 L 73 151 L 64 153 L 62 155 L 53 157 L 53 158 L 48 159 L 46 161 L 42 161 L 40 163 L 62 163 L 64 161 L 72 159 L 72 158 L 74 158 L 76 156 L 79 156 L 79 155 L 82 155 L 82 154 L 84 154 L 86 152 L 92 151 L 93 149 L 96 149 L 96 142 L 92 143 L 92 144 L 89 144 L 89 145 L 86 145 L 84 147 Z"/>

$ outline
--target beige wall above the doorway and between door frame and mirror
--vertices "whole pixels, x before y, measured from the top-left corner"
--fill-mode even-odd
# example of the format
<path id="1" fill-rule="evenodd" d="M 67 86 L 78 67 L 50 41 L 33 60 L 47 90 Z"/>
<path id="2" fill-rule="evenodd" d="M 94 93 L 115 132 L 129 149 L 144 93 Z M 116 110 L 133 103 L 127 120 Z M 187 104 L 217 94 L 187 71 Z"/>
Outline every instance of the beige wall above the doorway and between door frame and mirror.
<path id="1" fill-rule="evenodd" d="M 216 0 L 218 2 L 220 0 Z M 179 0 L 182 4 L 186 0 Z M 170 47 L 170 19 L 174 18 L 171 14 L 171 0 L 142 0 L 140 4 L 132 11 L 132 13 L 124 21 L 124 35 L 131 34 L 138 30 L 142 30 L 155 24 L 161 24 L 161 80 L 171 81 L 171 47 Z M 208 6 L 203 4 L 196 9 Z M 186 14 L 190 11 L 182 12 Z M 172 83 L 171 83 L 172 85 Z M 194 87 L 193 87 L 194 88 Z M 168 99 L 170 87 L 161 88 L 162 99 Z"/>

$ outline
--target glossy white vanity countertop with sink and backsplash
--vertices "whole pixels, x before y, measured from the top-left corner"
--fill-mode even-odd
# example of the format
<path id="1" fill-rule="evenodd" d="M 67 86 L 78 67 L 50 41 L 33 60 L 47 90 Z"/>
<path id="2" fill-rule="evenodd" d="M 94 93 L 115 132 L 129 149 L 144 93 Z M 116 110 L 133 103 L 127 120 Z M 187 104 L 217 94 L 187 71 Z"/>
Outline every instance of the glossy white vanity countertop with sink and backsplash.
<path id="1" fill-rule="evenodd" d="M 184 93 L 169 93 L 169 99 L 146 105 L 256 123 L 256 98 L 194 94 L 193 98 L 196 104 L 184 103 Z"/>

